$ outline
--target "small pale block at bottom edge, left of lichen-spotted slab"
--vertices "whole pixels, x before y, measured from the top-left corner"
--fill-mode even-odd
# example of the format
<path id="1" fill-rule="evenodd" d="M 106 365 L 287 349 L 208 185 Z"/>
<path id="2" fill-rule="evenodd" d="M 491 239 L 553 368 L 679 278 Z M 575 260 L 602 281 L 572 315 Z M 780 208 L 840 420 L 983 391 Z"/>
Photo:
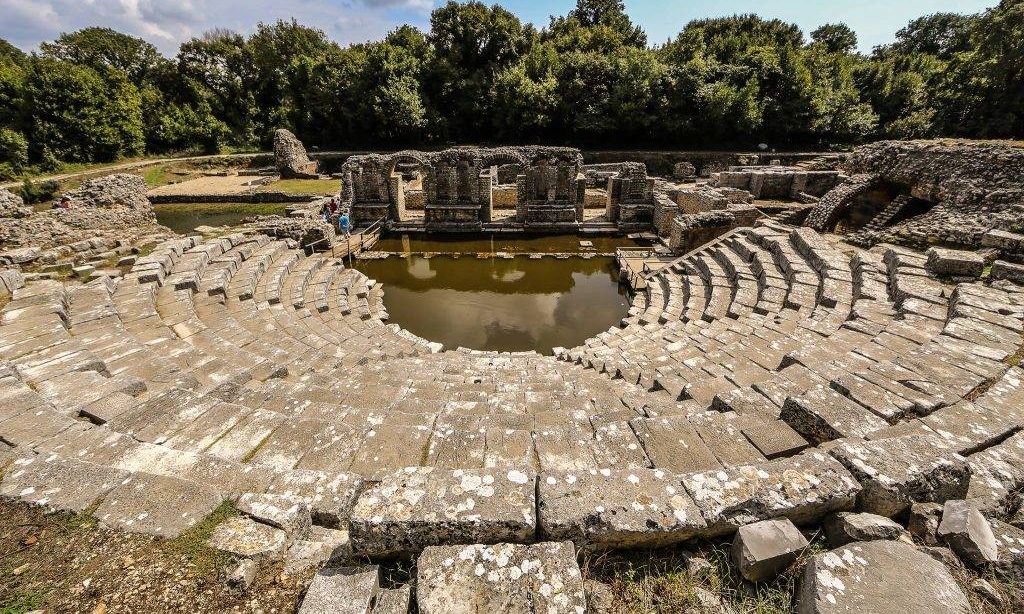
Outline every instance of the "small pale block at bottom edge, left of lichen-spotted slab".
<path id="1" fill-rule="evenodd" d="M 306 589 L 299 614 L 369 614 L 379 593 L 376 566 L 322 569 Z"/>

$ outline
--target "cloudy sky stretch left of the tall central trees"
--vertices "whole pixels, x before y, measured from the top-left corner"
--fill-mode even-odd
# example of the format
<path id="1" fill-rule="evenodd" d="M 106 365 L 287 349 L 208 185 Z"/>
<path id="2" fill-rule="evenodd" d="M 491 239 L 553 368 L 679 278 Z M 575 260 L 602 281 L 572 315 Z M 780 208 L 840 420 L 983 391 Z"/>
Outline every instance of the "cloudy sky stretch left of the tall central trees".
<path id="1" fill-rule="evenodd" d="M 141 37 L 167 55 L 213 28 L 251 32 L 295 18 L 340 43 L 380 38 L 402 23 L 423 26 L 436 0 L 0 0 L 0 38 L 25 49 L 61 32 L 102 26 Z"/>

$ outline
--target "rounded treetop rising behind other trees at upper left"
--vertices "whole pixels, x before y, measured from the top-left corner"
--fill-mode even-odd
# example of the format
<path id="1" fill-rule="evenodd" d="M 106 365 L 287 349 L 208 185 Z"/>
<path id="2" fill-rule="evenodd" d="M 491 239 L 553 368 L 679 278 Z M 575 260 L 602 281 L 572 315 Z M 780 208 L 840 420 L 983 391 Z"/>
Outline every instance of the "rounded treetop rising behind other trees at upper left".
<path id="1" fill-rule="evenodd" d="M 136 86 L 164 61 L 150 43 L 110 28 L 85 28 L 61 34 L 52 43 L 40 45 L 40 50 L 44 55 L 70 63 L 121 71 Z"/>

